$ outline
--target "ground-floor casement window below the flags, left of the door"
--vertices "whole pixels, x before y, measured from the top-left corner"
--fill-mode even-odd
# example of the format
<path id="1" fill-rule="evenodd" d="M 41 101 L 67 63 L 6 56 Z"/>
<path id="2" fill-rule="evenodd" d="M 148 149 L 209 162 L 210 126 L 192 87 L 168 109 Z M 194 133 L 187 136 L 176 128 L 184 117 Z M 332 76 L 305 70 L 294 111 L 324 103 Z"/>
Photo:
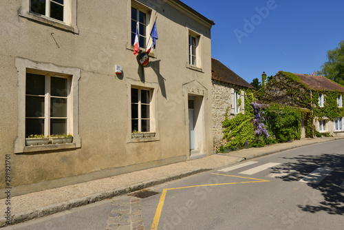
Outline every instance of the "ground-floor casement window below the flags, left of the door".
<path id="1" fill-rule="evenodd" d="M 131 88 L 131 132 L 151 132 L 152 90 Z"/>

